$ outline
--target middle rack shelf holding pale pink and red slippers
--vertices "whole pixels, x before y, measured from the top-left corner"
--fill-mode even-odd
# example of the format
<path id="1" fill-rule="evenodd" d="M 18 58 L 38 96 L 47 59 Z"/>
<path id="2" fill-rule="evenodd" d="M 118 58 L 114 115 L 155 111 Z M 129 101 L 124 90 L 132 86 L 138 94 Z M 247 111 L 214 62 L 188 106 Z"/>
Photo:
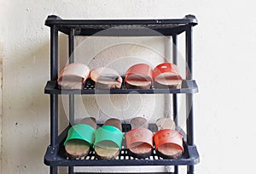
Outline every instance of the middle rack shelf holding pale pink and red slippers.
<path id="1" fill-rule="evenodd" d="M 125 84 L 122 84 L 120 89 L 95 89 L 95 82 L 88 79 L 84 83 L 84 89 L 82 90 L 70 90 L 59 89 L 56 81 L 48 81 L 44 88 L 44 93 L 49 94 L 157 94 L 157 93 L 197 93 L 198 87 L 196 82 L 191 80 L 183 80 L 182 87 L 180 89 L 174 88 L 154 88 L 152 89 L 127 89 Z"/>

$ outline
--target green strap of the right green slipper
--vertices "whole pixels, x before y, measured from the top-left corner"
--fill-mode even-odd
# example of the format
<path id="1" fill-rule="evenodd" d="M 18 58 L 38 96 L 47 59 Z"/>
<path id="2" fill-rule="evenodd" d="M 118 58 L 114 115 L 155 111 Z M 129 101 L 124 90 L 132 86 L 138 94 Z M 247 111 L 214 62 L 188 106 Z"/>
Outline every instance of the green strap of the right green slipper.
<path id="1" fill-rule="evenodd" d="M 119 149 L 121 149 L 123 132 L 121 132 L 115 126 L 104 125 L 99 127 L 96 130 L 95 137 L 96 139 L 95 139 L 94 147 L 96 145 L 100 146 L 100 143 L 104 141 L 111 141 L 115 143 L 119 147 Z"/>

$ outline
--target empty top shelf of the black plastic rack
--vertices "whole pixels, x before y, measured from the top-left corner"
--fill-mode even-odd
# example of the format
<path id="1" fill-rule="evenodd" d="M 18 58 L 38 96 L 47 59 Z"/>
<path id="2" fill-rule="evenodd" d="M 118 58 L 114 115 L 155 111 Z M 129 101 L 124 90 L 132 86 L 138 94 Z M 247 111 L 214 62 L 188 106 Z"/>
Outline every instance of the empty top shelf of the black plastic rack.
<path id="1" fill-rule="evenodd" d="M 49 15 L 45 25 L 74 36 L 172 36 L 197 25 L 194 15 L 172 20 L 62 20 Z"/>

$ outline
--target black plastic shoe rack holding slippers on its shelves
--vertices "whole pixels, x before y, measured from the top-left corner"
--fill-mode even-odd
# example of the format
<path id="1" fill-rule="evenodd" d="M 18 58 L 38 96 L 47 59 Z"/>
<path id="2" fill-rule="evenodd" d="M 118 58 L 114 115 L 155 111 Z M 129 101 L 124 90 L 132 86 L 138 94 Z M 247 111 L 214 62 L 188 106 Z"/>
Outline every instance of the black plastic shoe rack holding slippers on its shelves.
<path id="1" fill-rule="evenodd" d="M 186 15 L 183 19 L 171 20 L 62 20 L 55 15 L 49 15 L 45 20 L 45 25 L 50 27 L 50 80 L 47 81 L 44 93 L 49 94 L 50 101 L 50 144 L 44 156 L 44 164 L 49 166 L 50 174 L 58 174 L 58 166 L 67 166 L 68 173 L 75 172 L 74 166 L 174 166 L 174 172 L 178 173 L 178 166 L 187 166 L 187 173 L 195 173 L 194 165 L 199 163 L 199 154 L 194 143 L 193 131 L 193 93 L 198 92 L 198 87 L 193 80 L 192 69 L 192 29 L 197 25 L 194 15 Z M 108 32 L 100 32 L 106 29 Z M 150 29 L 150 30 L 148 30 Z M 58 77 L 58 36 L 59 32 L 68 36 L 69 63 L 74 62 L 74 36 L 172 36 L 172 63 L 177 65 L 177 36 L 185 32 L 185 55 L 186 55 L 186 77 L 183 80 L 181 89 L 127 89 L 125 84 L 121 89 L 99 90 L 95 89 L 94 83 L 90 80 L 84 84 L 82 90 L 60 90 L 57 86 Z M 74 122 L 74 95 L 89 94 L 132 94 L 131 91 L 143 94 L 163 94 L 172 95 L 173 120 L 177 121 L 177 95 L 186 95 L 186 132 L 183 132 L 184 153 L 178 159 L 163 159 L 153 154 L 147 159 L 139 160 L 131 157 L 127 153 L 125 146 L 115 160 L 97 160 L 93 149 L 84 158 L 69 159 L 65 154 L 63 141 L 67 137 L 67 129 L 58 132 L 58 96 L 67 94 L 69 96 L 69 122 Z M 176 122 L 177 124 L 177 122 Z M 177 125 L 178 126 L 178 125 Z M 123 124 L 123 131 L 128 132 L 130 125 Z M 150 124 L 149 129 L 157 131 L 155 124 Z M 152 172 L 153 173 L 153 172 Z"/>

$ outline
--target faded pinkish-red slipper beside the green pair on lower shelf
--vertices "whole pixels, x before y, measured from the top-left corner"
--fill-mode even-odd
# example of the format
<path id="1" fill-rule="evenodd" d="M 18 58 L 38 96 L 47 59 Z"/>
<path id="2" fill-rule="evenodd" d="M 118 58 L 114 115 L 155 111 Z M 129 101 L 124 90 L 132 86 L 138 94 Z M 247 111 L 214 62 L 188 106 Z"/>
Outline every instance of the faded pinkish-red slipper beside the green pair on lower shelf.
<path id="1" fill-rule="evenodd" d="M 148 121 L 143 117 L 131 119 L 131 131 L 125 134 L 128 153 L 138 159 L 152 154 L 153 133 L 148 130 Z"/>

